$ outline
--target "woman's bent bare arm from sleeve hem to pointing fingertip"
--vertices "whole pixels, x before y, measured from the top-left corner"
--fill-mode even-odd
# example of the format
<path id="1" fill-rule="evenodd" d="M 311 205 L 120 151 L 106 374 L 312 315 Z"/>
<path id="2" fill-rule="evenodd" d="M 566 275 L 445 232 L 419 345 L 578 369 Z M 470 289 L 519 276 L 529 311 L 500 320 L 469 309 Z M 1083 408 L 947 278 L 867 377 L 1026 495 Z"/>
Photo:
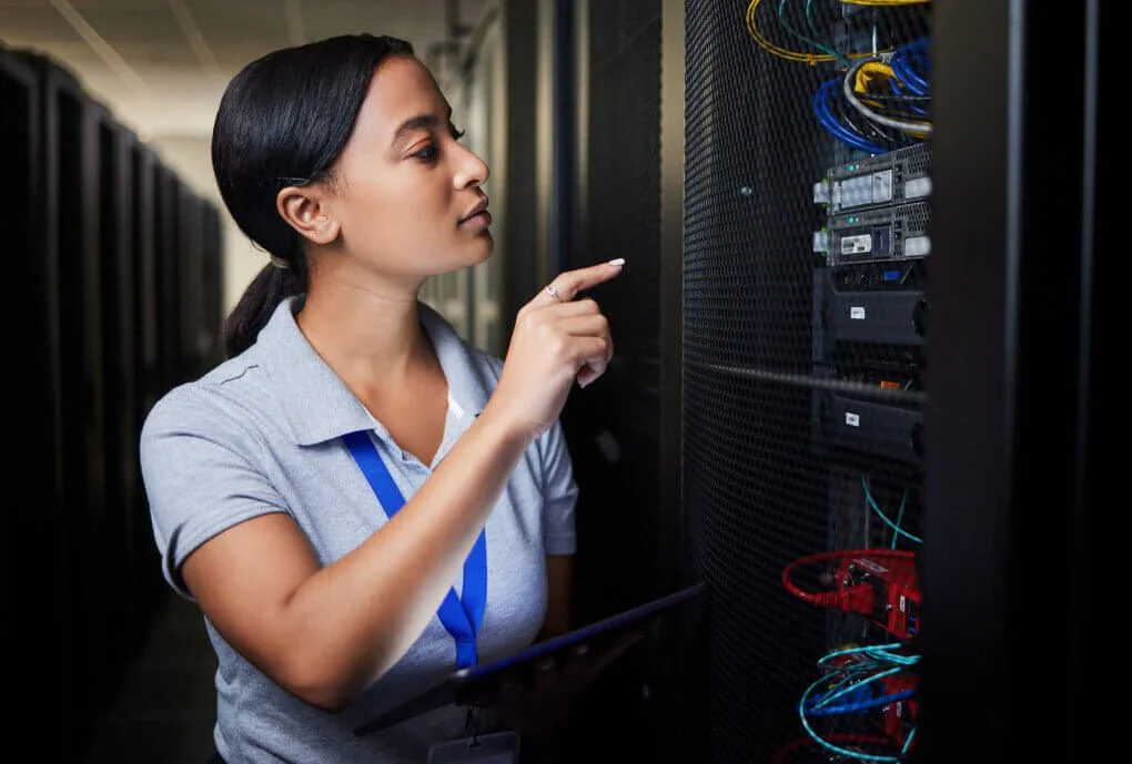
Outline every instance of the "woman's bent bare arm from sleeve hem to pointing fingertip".
<path id="1" fill-rule="evenodd" d="M 558 418 L 575 380 L 600 376 L 608 323 L 580 291 L 620 268 L 555 280 L 520 311 L 499 383 L 434 474 L 379 532 L 321 567 L 288 515 L 213 536 L 181 567 L 216 630 L 307 703 L 344 707 L 409 650 L 461 570 L 516 462 Z"/>

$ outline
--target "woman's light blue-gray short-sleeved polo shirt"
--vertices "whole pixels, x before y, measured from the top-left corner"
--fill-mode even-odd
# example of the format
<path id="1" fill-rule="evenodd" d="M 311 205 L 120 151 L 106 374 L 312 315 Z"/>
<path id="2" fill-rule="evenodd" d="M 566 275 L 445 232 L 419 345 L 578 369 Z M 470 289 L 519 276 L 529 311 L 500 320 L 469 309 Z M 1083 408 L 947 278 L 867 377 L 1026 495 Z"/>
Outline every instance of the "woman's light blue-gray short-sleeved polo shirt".
<path id="1" fill-rule="evenodd" d="M 469 346 L 421 304 L 421 321 L 448 380 L 444 439 L 432 464 L 402 450 L 308 344 L 294 320 L 300 298 L 282 303 L 255 345 L 201 379 L 168 393 L 140 438 L 142 471 L 163 573 L 181 595 L 179 569 L 209 538 L 267 513 L 285 513 L 324 565 L 387 521 L 342 440 L 367 430 L 408 500 L 482 411 L 501 362 Z M 574 552 L 577 488 L 556 426 L 533 443 L 487 522 L 488 598 L 481 661 L 530 644 L 547 603 L 546 555 Z M 453 582 L 460 592 L 460 581 Z M 434 617 L 405 656 L 340 713 L 319 711 L 274 684 L 205 619 L 216 651 L 215 741 L 230 764 L 420 762 L 428 746 L 458 737 L 464 715 L 446 709 L 392 730 L 353 729 L 444 678 L 455 643 Z"/>

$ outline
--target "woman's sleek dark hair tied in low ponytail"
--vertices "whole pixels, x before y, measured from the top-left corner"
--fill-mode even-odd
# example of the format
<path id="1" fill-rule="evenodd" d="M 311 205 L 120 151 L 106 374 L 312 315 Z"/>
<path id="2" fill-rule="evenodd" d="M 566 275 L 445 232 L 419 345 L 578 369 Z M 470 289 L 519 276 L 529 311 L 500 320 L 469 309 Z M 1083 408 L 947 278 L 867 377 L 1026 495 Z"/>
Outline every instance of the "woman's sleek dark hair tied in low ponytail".
<path id="1" fill-rule="evenodd" d="M 413 48 L 396 37 L 341 35 L 268 53 L 229 83 L 213 126 L 213 171 L 237 225 L 272 256 L 224 323 L 229 357 L 256 341 L 280 302 L 307 290 L 301 238 L 275 197 L 328 178 L 374 72 L 394 55 L 413 55 Z"/>

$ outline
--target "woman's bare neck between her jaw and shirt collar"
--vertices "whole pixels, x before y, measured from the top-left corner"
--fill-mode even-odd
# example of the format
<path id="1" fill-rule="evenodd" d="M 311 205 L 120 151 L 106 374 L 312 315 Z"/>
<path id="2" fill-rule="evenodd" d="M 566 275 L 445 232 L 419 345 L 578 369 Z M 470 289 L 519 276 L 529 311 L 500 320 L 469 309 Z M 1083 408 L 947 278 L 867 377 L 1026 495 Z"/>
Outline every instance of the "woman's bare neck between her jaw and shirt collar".
<path id="1" fill-rule="evenodd" d="M 418 289 L 316 280 L 299 329 L 334 371 L 365 396 L 434 359 L 420 324 Z"/>

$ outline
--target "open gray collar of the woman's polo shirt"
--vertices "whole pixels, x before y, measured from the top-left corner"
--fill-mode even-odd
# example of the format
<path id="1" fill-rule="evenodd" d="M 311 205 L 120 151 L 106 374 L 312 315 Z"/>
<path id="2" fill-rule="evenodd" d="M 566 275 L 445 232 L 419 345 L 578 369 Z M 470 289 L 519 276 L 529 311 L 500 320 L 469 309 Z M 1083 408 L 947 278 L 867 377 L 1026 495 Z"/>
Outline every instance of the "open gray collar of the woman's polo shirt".
<path id="1" fill-rule="evenodd" d="M 374 419 L 345 383 L 315 352 L 294 319 L 302 295 L 288 298 L 260 331 L 256 349 L 276 385 L 294 441 L 311 446 L 348 432 L 374 430 Z M 432 341 L 448 381 L 448 396 L 465 413 L 479 415 L 488 392 L 472 349 L 432 308 L 419 303 L 421 325 Z M 379 435 L 388 436 L 378 427 Z"/>

